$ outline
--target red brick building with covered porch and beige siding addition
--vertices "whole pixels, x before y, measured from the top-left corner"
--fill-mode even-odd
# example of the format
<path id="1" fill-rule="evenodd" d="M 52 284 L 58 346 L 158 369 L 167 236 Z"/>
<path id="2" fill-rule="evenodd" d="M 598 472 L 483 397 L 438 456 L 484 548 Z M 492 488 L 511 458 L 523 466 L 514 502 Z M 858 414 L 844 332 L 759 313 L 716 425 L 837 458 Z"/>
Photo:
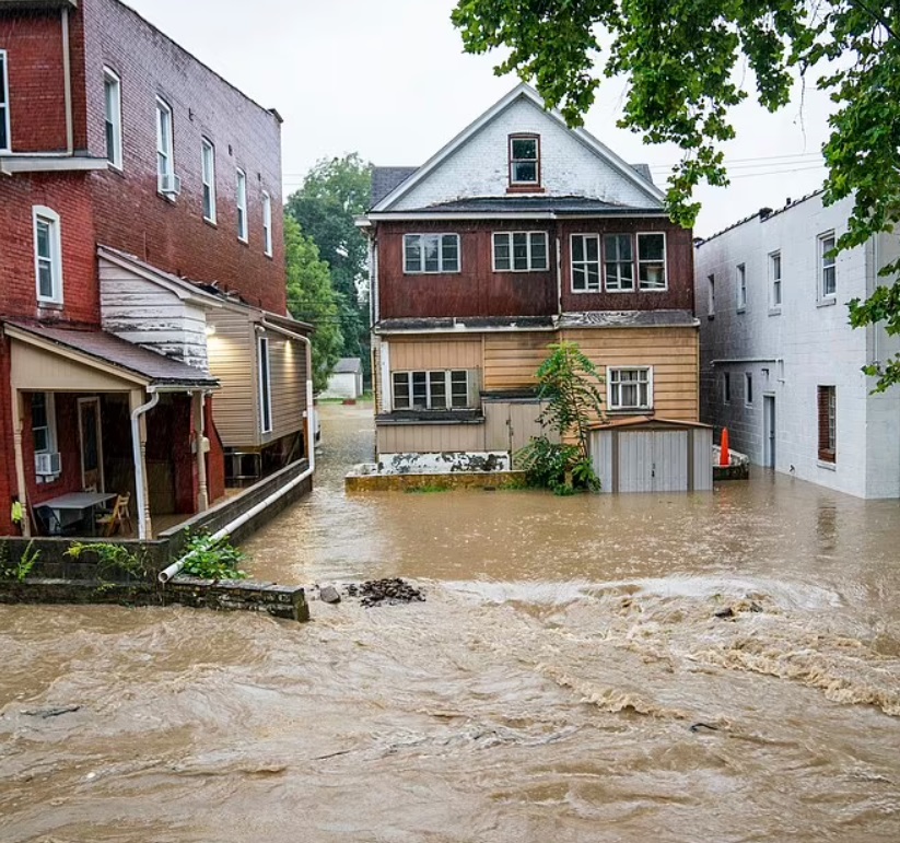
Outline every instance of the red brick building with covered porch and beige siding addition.
<path id="1" fill-rule="evenodd" d="M 118 0 L 0 0 L 0 500 L 149 535 L 303 450 L 280 122 Z"/>

